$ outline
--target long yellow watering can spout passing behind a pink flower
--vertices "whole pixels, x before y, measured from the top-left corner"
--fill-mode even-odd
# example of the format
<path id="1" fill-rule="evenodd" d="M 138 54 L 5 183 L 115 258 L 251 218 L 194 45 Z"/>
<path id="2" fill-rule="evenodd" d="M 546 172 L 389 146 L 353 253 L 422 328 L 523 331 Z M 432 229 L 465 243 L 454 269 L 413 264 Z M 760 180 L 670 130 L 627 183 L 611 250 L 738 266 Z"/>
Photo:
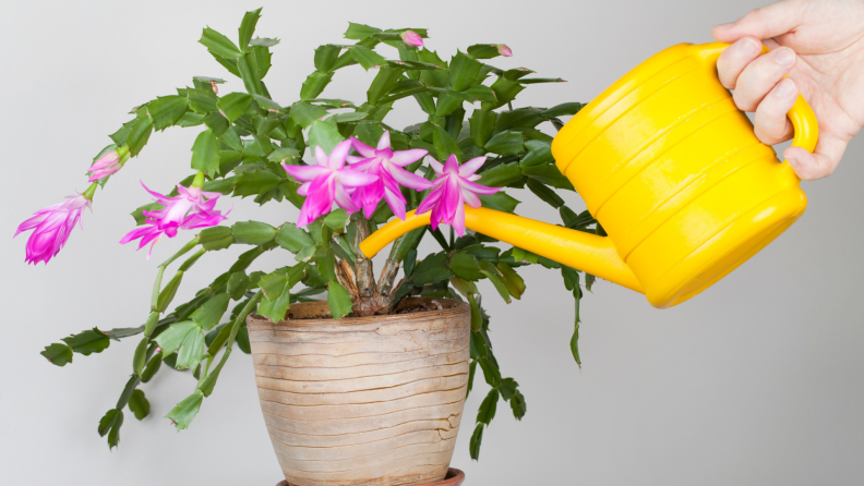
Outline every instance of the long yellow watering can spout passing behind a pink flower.
<path id="1" fill-rule="evenodd" d="M 410 211 L 404 221 L 394 219 L 360 243 L 360 250 L 371 258 L 403 234 L 429 224 L 429 217 L 430 212 Z M 644 293 L 608 238 L 483 207 L 465 207 L 465 227 Z"/>

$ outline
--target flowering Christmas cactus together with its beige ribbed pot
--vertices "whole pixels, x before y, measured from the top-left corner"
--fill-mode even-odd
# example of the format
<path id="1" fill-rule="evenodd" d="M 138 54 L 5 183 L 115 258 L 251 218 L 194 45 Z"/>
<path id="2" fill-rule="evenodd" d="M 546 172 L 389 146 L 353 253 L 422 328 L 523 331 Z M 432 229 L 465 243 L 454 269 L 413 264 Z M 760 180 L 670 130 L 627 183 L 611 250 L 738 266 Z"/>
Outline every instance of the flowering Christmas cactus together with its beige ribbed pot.
<path id="1" fill-rule="evenodd" d="M 280 104 L 263 81 L 279 41 L 253 38 L 260 12 L 245 13 L 238 42 L 211 28 L 200 40 L 242 80 L 245 93 L 219 93 L 223 80 L 197 76 L 192 86 L 136 107 L 94 158 L 89 187 L 19 227 L 16 235 L 32 230 L 27 262 L 47 264 L 97 189 L 153 132 L 200 132 L 192 173 L 165 193 L 144 186 L 153 201 L 132 212 L 137 228 L 121 241 L 147 246 L 149 257 L 163 250 L 154 250 L 157 242 L 190 234 L 156 267 L 145 323 L 84 330 L 41 354 L 64 366 L 74 353 L 139 340 L 131 378 L 98 424 L 109 448 L 118 446 L 127 413 L 149 415 L 144 389 L 161 369 L 191 370 L 195 378 L 189 397 L 165 415 L 188 428 L 237 344 L 253 354 L 265 422 L 290 484 L 440 481 L 478 368 L 491 390 L 473 425 L 472 459 L 501 399 L 517 420 L 526 413 L 518 384 L 502 376 L 495 360 L 483 292 L 509 303 L 526 290 L 518 267 L 560 271 L 575 300 L 571 348 L 579 363 L 581 285 L 590 290 L 595 278 L 585 275 L 583 282 L 573 268 L 466 231 L 461 218 L 464 204 L 513 212 L 519 202 L 505 190 L 527 189 L 557 209 L 563 226 L 602 234 L 587 211 L 571 210 L 556 194 L 573 186 L 554 166 L 552 136 L 538 129 L 547 122 L 560 129 L 561 117 L 584 105 L 514 108 L 526 87 L 562 80 L 491 65 L 490 59 L 512 56 L 505 45 L 472 45 L 445 61 L 424 46 L 425 29 L 353 23 L 345 33 L 353 44 L 315 49 L 300 100 Z M 337 71 L 352 69 L 376 71 L 364 101 L 322 97 Z M 425 120 L 401 130 L 387 124 L 387 113 L 411 100 Z M 229 224 L 226 196 L 289 204 L 299 217 Z M 397 240 L 376 275 L 359 243 L 410 209 L 431 211 L 432 226 Z M 418 254 L 423 238 L 441 251 Z M 172 306 L 185 272 L 206 265 L 207 254 L 238 245 L 248 250 L 233 265 Z M 255 258 L 271 251 L 281 252 L 285 265 L 252 271 Z"/>

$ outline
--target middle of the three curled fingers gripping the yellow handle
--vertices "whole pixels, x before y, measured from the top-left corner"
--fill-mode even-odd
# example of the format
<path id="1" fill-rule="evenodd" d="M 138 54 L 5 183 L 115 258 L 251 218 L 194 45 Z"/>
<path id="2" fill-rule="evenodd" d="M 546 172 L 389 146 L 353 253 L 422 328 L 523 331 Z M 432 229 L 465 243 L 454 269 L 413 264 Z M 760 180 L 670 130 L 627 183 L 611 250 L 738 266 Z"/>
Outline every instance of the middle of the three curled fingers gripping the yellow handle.
<path id="1" fill-rule="evenodd" d="M 795 58 L 792 49 L 780 47 L 747 64 L 732 95 L 739 109 L 756 111 L 765 95 L 795 65 Z"/>

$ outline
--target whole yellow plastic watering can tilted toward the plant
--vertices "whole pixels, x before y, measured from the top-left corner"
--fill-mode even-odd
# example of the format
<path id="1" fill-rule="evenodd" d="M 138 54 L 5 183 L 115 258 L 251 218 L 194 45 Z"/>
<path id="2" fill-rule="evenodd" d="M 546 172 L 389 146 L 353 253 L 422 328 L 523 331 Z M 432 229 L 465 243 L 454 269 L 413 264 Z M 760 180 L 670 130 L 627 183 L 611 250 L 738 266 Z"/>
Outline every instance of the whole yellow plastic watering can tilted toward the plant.
<path id="1" fill-rule="evenodd" d="M 801 180 L 760 143 L 717 77 L 728 44 L 680 44 L 655 54 L 581 109 L 552 155 L 609 236 L 488 208 L 465 226 L 680 304 L 734 270 L 789 228 L 807 205 Z M 767 50 L 766 50 L 767 51 Z M 799 96 L 793 144 L 813 151 L 818 125 Z M 429 223 L 409 212 L 360 244 L 373 256 Z"/>

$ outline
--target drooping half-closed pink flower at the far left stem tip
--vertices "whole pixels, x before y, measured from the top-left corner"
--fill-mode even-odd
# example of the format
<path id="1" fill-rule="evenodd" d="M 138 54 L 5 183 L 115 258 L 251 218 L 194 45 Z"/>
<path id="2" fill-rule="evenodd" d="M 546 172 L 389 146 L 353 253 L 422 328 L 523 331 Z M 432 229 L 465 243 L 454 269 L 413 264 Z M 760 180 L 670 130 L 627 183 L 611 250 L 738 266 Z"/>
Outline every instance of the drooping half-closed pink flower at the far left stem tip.
<path id="1" fill-rule="evenodd" d="M 12 238 L 35 228 L 27 239 L 27 256 L 24 258 L 26 263 L 36 265 L 39 262 L 45 262 L 48 264 L 48 260 L 57 256 L 69 240 L 72 228 L 81 221 L 84 208 L 89 208 L 93 203 L 83 194 L 67 196 L 67 198 L 69 201 L 39 209 L 34 212 L 36 216 L 19 226 Z"/>

